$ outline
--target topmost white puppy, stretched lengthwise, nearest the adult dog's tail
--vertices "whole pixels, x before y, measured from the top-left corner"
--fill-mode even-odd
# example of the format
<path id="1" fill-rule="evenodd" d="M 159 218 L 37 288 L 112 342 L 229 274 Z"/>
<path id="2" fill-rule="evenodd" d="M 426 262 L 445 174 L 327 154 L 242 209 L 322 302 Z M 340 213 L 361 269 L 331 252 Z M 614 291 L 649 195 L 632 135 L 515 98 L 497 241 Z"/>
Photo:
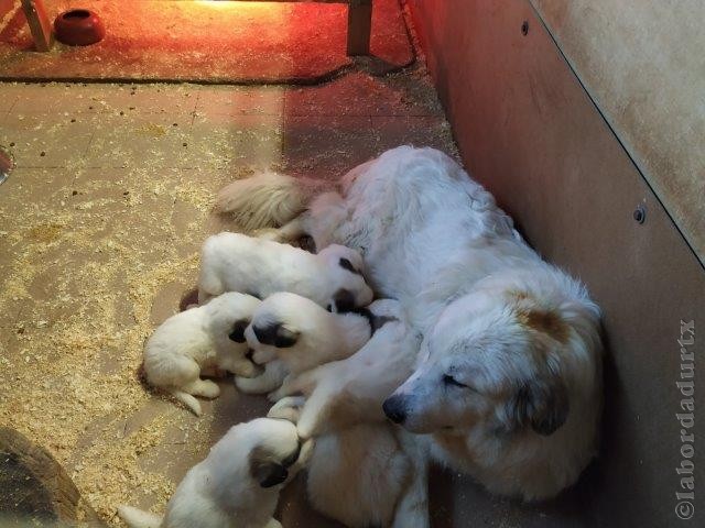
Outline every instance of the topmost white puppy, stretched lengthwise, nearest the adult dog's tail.
<path id="1" fill-rule="evenodd" d="M 224 292 L 261 299 L 276 292 L 293 292 L 323 307 L 351 309 L 372 301 L 362 273 L 359 252 L 343 245 L 312 254 L 289 244 L 224 232 L 209 237 L 203 245 L 198 301 Z"/>

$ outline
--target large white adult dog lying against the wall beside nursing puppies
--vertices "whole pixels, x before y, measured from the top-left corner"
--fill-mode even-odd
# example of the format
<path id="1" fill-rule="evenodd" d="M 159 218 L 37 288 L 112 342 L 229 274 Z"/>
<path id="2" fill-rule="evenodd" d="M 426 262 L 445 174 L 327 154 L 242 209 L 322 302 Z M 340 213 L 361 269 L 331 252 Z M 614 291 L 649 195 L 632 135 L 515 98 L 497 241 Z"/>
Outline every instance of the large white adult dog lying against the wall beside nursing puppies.
<path id="1" fill-rule="evenodd" d="M 275 179 L 279 211 L 307 204 L 279 239 L 307 233 L 318 248 L 359 250 L 372 287 L 399 299 L 424 336 L 387 415 L 494 492 L 539 499 L 573 484 L 595 455 L 601 407 L 599 310 L 585 288 L 543 262 L 492 196 L 438 151 L 394 148 L 323 194 Z M 221 210 L 274 207 L 235 200 L 239 184 L 220 195 Z M 273 184 L 256 176 L 247 185 L 264 197 Z"/>

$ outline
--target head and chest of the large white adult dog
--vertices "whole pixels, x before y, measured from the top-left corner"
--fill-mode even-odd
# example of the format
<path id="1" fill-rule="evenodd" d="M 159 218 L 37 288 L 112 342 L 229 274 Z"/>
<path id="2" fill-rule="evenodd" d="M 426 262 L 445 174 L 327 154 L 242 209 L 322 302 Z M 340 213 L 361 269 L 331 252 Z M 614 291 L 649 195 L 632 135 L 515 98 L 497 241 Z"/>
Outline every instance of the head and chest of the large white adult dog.
<path id="1" fill-rule="evenodd" d="M 573 482 L 595 453 L 601 346 L 598 309 L 577 283 L 546 296 L 539 273 L 527 277 L 492 277 L 449 304 L 383 410 L 432 435 L 440 458 L 471 461 L 490 490 L 531 499 Z"/>

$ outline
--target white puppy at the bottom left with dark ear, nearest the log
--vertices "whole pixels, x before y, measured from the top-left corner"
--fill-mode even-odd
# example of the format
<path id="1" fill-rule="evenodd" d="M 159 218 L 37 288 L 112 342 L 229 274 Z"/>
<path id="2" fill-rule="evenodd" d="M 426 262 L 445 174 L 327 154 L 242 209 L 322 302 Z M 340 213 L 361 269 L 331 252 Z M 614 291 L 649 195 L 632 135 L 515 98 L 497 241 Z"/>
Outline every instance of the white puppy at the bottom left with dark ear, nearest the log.
<path id="1" fill-rule="evenodd" d="M 118 515 L 130 528 L 281 528 L 272 517 L 279 492 L 312 450 L 286 420 L 237 425 L 186 473 L 163 517 L 130 506 Z"/>

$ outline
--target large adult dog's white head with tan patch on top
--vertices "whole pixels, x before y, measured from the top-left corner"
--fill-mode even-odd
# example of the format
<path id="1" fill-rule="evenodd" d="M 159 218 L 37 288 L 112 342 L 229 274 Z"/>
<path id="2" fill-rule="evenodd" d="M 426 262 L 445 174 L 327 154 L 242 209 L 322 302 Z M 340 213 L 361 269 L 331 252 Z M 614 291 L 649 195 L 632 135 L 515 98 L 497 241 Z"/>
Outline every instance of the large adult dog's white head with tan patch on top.
<path id="1" fill-rule="evenodd" d="M 600 383 L 598 317 L 584 288 L 553 270 L 484 280 L 443 310 L 384 413 L 419 433 L 550 436 L 574 406 L 599 406 L 586 402 Z"/>

